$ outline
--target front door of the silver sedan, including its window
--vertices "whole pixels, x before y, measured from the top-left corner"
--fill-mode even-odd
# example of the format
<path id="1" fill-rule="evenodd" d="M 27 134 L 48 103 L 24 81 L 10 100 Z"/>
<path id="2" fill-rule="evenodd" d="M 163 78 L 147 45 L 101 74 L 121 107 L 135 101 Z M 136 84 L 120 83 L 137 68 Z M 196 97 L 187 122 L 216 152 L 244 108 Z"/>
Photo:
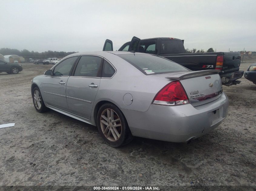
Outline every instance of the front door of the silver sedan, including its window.
<path id="1" fill-rule="evenodd" d="M 69 57 L 53 68 L 53 75 L 45 75 L 41 94 L 45 102 L 54 107 L 68 110 L 66 85 L 78 56 Z"/>

